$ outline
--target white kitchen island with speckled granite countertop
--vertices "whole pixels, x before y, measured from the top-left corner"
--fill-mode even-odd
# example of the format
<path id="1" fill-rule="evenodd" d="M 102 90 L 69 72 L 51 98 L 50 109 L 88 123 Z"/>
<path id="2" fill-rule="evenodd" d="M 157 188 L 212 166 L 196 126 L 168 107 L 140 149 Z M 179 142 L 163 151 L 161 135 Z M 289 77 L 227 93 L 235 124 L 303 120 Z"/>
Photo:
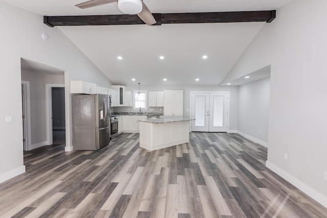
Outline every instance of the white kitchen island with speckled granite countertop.
<path id="1" fill-rule="evenodd" d="M 139 120 L 139 147 L 157 150 L 190 141 L 189 118 L 167 117 Z"/>

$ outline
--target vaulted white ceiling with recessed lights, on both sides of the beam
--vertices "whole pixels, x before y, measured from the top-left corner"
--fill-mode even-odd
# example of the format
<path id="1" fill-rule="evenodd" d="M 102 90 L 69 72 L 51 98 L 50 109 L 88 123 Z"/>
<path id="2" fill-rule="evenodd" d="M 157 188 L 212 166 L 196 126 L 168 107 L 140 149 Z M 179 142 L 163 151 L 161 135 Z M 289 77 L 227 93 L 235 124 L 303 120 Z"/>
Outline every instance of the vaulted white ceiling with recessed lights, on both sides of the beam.
<path id="1" fill-rule="evenodd" d="M 48 16 L 122 14 L 115 3 L 79 9 L 74 5 L 83 0 L 1 1 Z M 144 0 L 152 13 L 276 10 L 289 2 L 292 0 Z M 219 85 L 263 25 L 270 24 L 55 28 L 71 39 L 114 84 Z M 165 59 L 159 59 L 161 55 Z M 203 55 L 208 58 L 202 59 Z M 118 56 L 123 59 L 117 59 Z"/>

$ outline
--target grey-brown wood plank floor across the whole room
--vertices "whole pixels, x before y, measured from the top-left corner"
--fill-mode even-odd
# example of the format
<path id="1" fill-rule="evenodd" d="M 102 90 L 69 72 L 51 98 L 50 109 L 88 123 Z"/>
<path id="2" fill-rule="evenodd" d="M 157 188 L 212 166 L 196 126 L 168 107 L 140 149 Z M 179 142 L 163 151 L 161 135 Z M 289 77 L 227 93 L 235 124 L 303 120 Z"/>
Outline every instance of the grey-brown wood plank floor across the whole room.
<path id="1" fill-rule="evenodd" d="M 152 152 L 127 133 L 99 151 L 44 146 L 0 184 L 0 217 L 327 217 L 266 159 L 265 147 L 225 133 Z"/>

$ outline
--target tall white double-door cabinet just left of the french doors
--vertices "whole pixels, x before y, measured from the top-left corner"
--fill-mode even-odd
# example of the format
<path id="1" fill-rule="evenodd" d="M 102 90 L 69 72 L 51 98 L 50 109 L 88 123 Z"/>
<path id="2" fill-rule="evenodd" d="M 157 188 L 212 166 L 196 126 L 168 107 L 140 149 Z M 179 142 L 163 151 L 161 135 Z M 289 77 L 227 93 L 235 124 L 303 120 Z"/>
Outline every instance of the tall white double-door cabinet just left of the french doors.
<path id="1" fill-rule="evenodd" d="M 164 92 L 164 116 L 183 116 L 183 90 Z"/>

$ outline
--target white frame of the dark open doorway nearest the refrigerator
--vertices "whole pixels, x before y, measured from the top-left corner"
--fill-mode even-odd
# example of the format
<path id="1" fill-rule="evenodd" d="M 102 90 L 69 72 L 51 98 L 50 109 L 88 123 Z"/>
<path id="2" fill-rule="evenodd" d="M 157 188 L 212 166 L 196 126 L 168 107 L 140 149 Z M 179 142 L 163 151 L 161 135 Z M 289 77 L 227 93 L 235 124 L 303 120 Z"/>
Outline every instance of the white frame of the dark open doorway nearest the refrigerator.
<path id="1" fill-rule="evenodd" d="M 51 145 L 53 143 L 52 88 L 65 88 L 65 84 L 45 84 L 46 144 L 48 144 L 48 145 Z M 66 104 L 66 101 L 65 101 L 65 104 Z"/>

